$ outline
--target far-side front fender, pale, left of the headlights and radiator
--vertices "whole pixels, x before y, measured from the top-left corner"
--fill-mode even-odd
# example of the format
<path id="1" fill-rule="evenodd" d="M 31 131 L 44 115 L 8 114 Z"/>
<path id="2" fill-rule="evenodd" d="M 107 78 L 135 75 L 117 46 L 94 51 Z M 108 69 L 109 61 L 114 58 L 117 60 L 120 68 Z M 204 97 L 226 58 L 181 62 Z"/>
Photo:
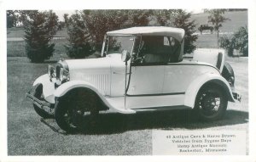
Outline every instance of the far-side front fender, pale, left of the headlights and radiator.
<path id="1" fill-rule="evenodd" d="M 44 99 L 49 103 L 55 103 L 55 98 L 53 95 L 53 92 L 55 91 L 55 85 L 53 82 L 49 81 L 49 75 L 45 74 L 39 76 L 36 81 L 33 82 L 33 86 L 36 86 L 37 84 L 43 85 Z"/>

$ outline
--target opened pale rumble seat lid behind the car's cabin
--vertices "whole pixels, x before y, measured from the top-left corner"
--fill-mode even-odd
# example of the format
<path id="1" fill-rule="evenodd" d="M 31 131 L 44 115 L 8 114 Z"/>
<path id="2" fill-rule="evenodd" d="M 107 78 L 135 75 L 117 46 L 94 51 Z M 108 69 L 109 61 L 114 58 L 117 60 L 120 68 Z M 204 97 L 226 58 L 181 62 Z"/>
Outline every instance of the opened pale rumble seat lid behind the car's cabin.
<path id="1" fill-rule="evenodd" d="M 222 71 L 224 66 L 224 53 L 218 49 L 198 49 L 194 52 L 193 60 L 212 64 Z"/>

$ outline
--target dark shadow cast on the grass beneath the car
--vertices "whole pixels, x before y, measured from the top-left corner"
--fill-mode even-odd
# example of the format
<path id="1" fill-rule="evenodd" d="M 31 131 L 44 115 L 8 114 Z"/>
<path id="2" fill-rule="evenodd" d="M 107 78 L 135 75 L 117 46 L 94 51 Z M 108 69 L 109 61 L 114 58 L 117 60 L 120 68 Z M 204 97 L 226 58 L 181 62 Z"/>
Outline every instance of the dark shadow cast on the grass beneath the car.
<path id="1" fill-rule="evenodd" d="M 114 134 L 146 129 L 196 130 L 217 126 L 233 126 L 247 122 L 248 113 L 237 110 L 227 110 L 223 120 L 212 122 L 197 120 L 191 109 L 139 112 L 134 115 L 106 113 L 100 114 L 96 122 L 90 125 L 88 125 L 87 117 L 84 117 L 81 129 L 73 134 Z M 53 128 L 52 130 L 54 130 Z M 60 129 L 56 128 L 55 130 Z"/>

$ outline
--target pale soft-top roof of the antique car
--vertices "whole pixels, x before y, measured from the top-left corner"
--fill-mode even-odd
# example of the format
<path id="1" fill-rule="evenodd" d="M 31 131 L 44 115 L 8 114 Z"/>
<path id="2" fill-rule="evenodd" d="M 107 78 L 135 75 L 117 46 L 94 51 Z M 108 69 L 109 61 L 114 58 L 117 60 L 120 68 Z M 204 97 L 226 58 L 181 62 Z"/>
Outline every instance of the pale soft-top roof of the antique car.
<path id="1" fill-rule="evenodd" d="M 141 36 L 172 36 L 181 42 L 185 31 L 181 28 L 173 28 L 166 26 L 144 26 L 144 27 L 131 27 L 118 31 L 108 31 L 108 36 L 119 35 L 141 35 Z"/>

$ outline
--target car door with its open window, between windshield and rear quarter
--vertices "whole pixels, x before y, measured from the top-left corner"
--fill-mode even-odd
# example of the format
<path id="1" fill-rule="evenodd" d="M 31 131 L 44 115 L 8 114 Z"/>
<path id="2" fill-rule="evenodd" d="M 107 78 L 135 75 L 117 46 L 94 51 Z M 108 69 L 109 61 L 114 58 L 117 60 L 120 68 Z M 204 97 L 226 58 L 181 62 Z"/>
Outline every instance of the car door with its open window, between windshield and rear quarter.
<path id="1" fill-rule="evenodd" d="M 164 44 L 163 36 L 142 36 L 138 47 L 138 62 L 131 64 L 128 96 L 147 96 L 162 93 L 165 58 L 159 53 Z"/>

